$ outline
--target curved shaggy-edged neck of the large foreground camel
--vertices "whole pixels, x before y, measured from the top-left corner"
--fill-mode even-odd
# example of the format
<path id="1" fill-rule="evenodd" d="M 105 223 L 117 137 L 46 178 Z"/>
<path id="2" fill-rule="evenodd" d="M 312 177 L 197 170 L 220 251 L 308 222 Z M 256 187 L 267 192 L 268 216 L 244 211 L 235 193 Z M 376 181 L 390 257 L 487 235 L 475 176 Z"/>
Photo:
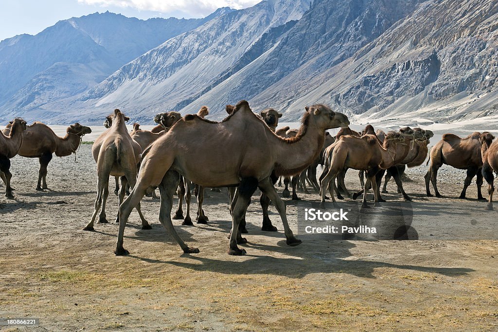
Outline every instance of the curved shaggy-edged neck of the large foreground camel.
<path id="1" fill-rule="evenodd" d="M 318 157 L 325 141 L 325 129 L 319 128 L 313 116 L 303 123 L 296 137 L 279 139 L 276 149 L 277 175 L 299 174 Z"/>

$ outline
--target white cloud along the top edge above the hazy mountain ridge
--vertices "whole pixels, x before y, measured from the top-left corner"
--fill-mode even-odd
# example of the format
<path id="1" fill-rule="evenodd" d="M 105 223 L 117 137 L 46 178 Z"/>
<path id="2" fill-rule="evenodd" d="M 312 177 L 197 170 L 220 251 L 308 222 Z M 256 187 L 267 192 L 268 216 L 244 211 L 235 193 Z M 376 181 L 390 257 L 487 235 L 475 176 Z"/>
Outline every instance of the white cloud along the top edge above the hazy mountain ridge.
<path id="1" fill-rule="evenodd" d="M 78 0 L 80 3 L 101 6 L 128 7 L 161 13 L 182 11 L 192 15 L 207 15 L 220 7 L 246 8 L 260 0 Z"/>

